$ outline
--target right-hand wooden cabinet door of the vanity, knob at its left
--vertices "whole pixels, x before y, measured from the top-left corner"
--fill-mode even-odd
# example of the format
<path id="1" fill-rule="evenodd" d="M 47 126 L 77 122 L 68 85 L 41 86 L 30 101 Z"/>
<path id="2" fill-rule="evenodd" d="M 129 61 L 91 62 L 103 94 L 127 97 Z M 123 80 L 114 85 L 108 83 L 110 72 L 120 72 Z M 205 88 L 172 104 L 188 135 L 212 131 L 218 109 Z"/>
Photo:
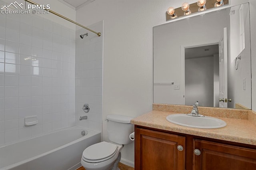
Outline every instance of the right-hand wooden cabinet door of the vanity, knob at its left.
<path id="1" fill-rule="evenodd" d="M 193 170 L 255 170 L 256 150 L 194 139 Z"/>

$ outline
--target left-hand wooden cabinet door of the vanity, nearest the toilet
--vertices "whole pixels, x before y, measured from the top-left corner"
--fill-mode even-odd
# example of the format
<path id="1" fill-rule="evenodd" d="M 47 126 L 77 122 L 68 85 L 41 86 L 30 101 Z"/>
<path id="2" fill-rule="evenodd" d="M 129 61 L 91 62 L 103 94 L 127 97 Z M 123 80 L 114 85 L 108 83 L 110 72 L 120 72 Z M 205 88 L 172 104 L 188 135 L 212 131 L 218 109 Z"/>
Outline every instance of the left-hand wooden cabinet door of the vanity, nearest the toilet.
<path id="1" fill-rule="evenodd" d="M 182 151 L 178 145 L 183 147 Z M 184 170 L 185 137 L 136 128 L 135 169 Z"/>

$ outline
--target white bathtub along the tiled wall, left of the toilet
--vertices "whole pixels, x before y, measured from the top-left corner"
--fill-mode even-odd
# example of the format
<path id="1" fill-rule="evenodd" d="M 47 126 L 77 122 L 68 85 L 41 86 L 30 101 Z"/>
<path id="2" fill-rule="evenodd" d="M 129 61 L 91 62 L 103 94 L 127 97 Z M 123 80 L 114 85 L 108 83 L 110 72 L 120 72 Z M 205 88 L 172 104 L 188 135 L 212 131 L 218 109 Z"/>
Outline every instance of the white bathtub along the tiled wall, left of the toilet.
<path id="1" fill-rule="evenodd" d="M 0 170 L 75 170 L 84 149 L 100 140 L 100 132 L 70 127 L 2 146 Z"/>

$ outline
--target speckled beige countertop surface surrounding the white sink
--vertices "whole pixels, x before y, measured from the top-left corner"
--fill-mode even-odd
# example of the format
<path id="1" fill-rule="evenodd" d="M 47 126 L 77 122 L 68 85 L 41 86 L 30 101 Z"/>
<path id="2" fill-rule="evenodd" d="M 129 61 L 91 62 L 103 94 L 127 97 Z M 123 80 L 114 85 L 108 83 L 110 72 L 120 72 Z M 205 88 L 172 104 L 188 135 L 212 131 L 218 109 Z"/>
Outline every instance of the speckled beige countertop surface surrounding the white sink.
<path id="1" fill-rule="evenodd" d="M 176 113 L 153 110 L 132 119 L 131 123 L 134 125 L 158 128 L 172 132 L 256 145 L 256 125 L 248 119 L 217 117 L 218 119 L 226 122 L 226 127 L 216 129 L 200 129 L 184 127 L 168 122 L 166 117 L 171 114 Z"/>

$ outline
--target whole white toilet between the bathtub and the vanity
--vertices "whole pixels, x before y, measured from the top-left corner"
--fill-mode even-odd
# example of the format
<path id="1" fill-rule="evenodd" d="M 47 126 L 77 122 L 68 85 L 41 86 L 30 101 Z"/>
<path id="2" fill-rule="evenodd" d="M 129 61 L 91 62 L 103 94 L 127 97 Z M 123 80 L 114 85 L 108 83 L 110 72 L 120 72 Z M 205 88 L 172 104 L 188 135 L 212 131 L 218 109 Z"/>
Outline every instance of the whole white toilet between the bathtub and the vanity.
<path id="1" fill-rule="evenodd" d="M 82 154 L 81 164 L 86 170 L 120 170 L 120 150 L 124 144 L 132 143 L 129 135 L 134 132 L 130 124 L 133 117 L 107 115 L 107 132 L 111 142 L 100 142 L 86 148 Z"/>

